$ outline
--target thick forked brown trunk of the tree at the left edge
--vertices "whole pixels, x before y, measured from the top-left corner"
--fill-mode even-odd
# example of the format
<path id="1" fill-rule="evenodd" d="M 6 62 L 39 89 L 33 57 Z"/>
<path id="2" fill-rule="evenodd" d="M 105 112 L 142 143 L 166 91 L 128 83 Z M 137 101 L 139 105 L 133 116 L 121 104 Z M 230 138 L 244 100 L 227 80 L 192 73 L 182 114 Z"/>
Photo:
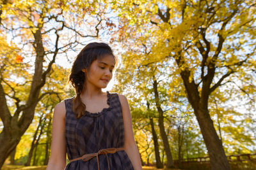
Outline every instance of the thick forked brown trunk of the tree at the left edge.
<path id="1" fill-rule="evenodd" d="M 19 105 L 19 103 L 17 103 L 17 110 L 13 116 L 11 115 L 6 104 L 5 93 L 0 80 L 0 118 L 4 125 L 3 131 L 0 134 L 0 168 L 3 166 L 4 161 L 10 155 L 10 153 L 12 153 L 15 147 L 19 144 L 21 136 L 24 134 L 24 132 L 26 132 L 31 124 L 35 114 L 36 104 L 40 100 L 40 90 L 45 84 L 47 73 L 51 71 L 51 66 L 54 63 L 58 53 L 58 48 L 56 48 L 47 70 L 43 73 L 45 51 L 42 43 L 42 34 L 40 31 L 41 29 L 38 28 L 36 32 L 33 33 L 35 38 L 34 47 L 36 51 L 36 59 L 35 73 L 33 74 L 29 97 L 26 104 Z M 59 36 L 58 34 L 56 34 L 56 36 L 57 45 Z M 22 115 L 20 115 L 20 113 L 22 113 Z"/>

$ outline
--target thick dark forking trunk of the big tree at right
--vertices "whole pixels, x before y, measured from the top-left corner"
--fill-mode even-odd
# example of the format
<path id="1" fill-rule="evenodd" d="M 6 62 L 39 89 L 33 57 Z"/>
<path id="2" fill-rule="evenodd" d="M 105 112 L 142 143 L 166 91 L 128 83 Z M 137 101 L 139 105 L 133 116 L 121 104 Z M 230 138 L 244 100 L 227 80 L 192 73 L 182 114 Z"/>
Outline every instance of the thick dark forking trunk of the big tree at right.
<path id="1" fill-rule="evenodd" d="M 215 56 L 216 57 L 216 56 Z M 179 67 L 184 66 L 182 56 L 175 58 Z M 208 101 L 211 92 L 218 87 L 218 85 L 211 87 L 214 78 L 215 66 L 214 62 L 210 62 L 207 66 L 207 75 L 202 71 L 202 90 L 198 91 L 198 84 L 195 80 L 191 80 L 191 71 L 188 68 L 182 69 L 180 76 L 183 80 L 188 101 L 191 104 L 196 120 L 198 121 L 200 131 L 204 138 L 205 146 L 207 147 L 210 164 L 212 170 L 230 170 L 227 157 L 225 155 L 222 143 L 209 114 Z"/>

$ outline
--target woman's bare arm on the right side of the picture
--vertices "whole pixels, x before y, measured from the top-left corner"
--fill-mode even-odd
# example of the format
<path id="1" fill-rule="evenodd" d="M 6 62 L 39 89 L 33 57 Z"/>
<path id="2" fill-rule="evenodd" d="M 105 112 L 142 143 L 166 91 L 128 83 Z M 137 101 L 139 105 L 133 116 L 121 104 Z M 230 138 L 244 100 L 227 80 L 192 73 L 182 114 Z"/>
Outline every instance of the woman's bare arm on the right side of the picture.
<path id="1" fill-rule="evenodd" d="M 132 166 L 134 170 L 141 170 L 141 161 L 140 154 L 138 151 L 138 147 L 134 140 L 134 135 L 132 131 L 132 117 L 131 111 L 129 108 L 128 101 L 125 96 L 118 94 L 121 105 L 122 105 L 122 113 L 124 119 L 124 148 L 127 153 L 129 159 L 132 162 Z"/>

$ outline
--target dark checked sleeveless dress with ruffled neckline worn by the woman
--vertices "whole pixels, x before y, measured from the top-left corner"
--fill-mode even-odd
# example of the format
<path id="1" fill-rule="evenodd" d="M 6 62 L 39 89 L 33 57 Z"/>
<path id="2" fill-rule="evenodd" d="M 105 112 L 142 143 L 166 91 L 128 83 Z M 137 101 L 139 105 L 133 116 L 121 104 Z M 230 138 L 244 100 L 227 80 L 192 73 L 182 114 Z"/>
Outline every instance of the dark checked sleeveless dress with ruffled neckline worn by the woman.
<path id="1" fill-rule="evenodd" d="M 97 153 L 104 148 L 124 147 L 124 122 L 122 108 L 118 94 L 107 92 L 108 108 L 98 113 L 84 111 L 84 115 L 77 119 L 72 111 L 72 99 L 65 99 L 66 120 L 65 139 L 68 159 L 76 159 L 84 154 Z M 108 153 L 111 170 L 133 170 L 131 160 L 124 150 Z M 106 154 L 99 155 L 100 170 L 108 169 Z M 70 162 L 65 170 L 96 170 L 97 157 L 84 162 L 76 160 Z"/>

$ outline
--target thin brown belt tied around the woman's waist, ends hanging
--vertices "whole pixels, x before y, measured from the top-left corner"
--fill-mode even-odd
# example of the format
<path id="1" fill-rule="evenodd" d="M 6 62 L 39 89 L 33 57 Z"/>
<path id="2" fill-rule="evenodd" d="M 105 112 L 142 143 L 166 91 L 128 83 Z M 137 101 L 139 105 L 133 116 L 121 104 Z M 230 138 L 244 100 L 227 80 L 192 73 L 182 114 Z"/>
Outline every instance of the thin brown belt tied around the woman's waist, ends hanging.
<path id="1" fill-rule="evenodd" d="M 85 154 L 85 155 L 83 155 L 81 157 L 78 157 L 76 159 L 72 159 L 69 162 L 73 162 L 73 161 L 80 160 L 80 159 L 83 160 L 84 162 L 86 162 L 87 160 L 90 160 L 93 157 L 97 157 L 98 170 L 100 170 L 99 155 L 105 154 L 107 156 L 107 160 L 108 160 L 108 153 L 116 153 L 117 151 L 120 151 L 120 150 L 124 150 L 124 148 L 106 148 L 106 149 L 99 150 L 99 152 L 97 152 L 97 153 Z M 109 161 L 108 161 L 108 169 L 110 170 Z"/>

